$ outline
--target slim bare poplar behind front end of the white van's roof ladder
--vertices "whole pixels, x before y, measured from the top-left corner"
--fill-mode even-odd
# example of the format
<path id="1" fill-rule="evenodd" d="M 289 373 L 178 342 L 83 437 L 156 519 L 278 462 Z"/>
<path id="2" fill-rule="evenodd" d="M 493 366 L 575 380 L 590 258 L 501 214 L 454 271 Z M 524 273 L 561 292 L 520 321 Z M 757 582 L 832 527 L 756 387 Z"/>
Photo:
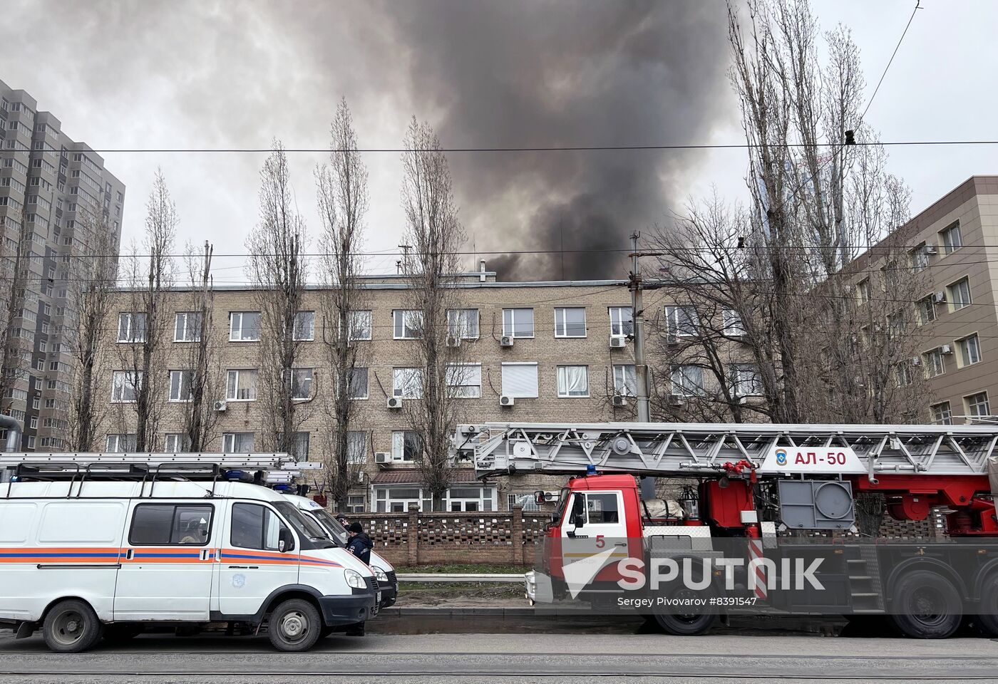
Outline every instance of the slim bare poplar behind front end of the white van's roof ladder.
<path id="1" fill-rule="evenodd" d="M 259 222 L 247 237 L 250 280 L 259 307 L 259 382 L 264 448 L 297 454 L 298 428 L 315 394 L 314 369 L 298 368 L 314 332 L 314 312 L 301 311 L 307 234 L 291 194 L 287 156 L 279 141 L 260 171 Z M 311 314 L 311 317 L 309 317 Z M 300 455 L 303 457 L 303 455 Z"/>

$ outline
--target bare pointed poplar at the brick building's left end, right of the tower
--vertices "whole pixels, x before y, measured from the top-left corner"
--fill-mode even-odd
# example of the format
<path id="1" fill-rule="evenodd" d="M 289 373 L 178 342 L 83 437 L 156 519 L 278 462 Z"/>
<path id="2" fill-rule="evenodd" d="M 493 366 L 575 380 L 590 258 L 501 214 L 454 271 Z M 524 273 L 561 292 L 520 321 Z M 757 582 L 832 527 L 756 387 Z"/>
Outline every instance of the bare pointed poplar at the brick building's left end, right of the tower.
<path id="1" fill-rule="evenodd" d="M 177 206 L 170 196 L 163 171 L 157 171 L 146 203 L 146 231 L 141 249 L 133 247 L 126 262 L 128 310 L 119 315 L 119 358 L 124 368 L 122 384 L 113 391 L 122 413 L 135 415 L 135 451 L 158 451 L 164 397 L 169 391 L 166 373 L 167 344 L 173 317 L 166 293 L 176 277 L 173 261 L 177 234 Z M 125 401 L 122 401 L 124 399 Z"/>

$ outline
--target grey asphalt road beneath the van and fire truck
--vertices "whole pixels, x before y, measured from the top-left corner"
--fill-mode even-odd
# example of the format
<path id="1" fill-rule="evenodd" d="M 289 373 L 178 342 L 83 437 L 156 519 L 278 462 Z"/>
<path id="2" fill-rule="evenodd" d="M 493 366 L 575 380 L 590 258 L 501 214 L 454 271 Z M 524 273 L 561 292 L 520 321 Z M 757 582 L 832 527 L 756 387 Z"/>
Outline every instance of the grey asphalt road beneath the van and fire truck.
<path id="1" fill-rule="evenodd" d="M 471 618 L 468 618 L 471 619 Z M 56 655 L 0 633 L 0 682 L 998 682 L 998 642 L 743 634 L 331 636 L 304 654 L 262 637 L 143 635 Z"/>

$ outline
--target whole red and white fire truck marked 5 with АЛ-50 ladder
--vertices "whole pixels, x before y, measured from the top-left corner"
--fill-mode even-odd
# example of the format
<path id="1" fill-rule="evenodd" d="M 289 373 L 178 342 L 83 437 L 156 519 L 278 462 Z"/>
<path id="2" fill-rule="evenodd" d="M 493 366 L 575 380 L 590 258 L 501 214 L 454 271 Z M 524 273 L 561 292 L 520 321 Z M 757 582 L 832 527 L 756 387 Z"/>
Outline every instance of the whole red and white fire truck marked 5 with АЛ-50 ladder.
<path id="1" fill-rule="evenodd" d="M 996 443 L 989 425 L 495 423 L 459 426 L 455 455 L 480 478 L 572 476 L 528 573 L 538 602 L 643 610 L 675 634 L 762 611 L 994 637 Z M 636 477 L 682 494 L 649 506 Z M 934 531 L 861 535 L 857 509 Z"/>

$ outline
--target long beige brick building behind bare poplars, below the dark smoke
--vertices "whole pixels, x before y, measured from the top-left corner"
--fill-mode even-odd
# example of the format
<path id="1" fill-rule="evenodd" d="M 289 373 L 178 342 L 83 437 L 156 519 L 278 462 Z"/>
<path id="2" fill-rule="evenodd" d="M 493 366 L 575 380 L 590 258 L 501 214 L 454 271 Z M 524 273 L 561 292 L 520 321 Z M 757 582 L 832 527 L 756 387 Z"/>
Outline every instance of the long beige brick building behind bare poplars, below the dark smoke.
<path id="1" fill-rule="evenodd" d="M 358 345 L 356 410 L 350 425 L 362 475 L 351 492 L 352 511 L 404 511 L 424 505 L 428 492 L 413 467 L 415 436 L 407 430 L 404 406 L 419 401 L 408 396 L 407 374 L 415 365 L 415 342 L 407 328 L 401 276 L 365 276 L 364 309 L 355 325 Z M 634 420 L 634 356 L 631 295 L 625 281 L 496 282 L 481 270 L 460 277 L 460 312 L 451 314 L 451 337 L 460 338 L 460 420 L 522 422 L 596 422 Z M 330 372 L 324 368 L 321 290 L 310 289 L 300 314 L 302 361 L 295 373 L 295 392 L 303 412 L 298 457 L 321 460 L 328 453 L 329 417 L 320 408 Z M 162 447 L 182 451 L 183 398 L 174 390 L 189 359 L 189 314 L 193 292 L 165 294 L 165 307 L 175 312 L 176 329 L 167 351 L 169 368 L 159 380 L 169 383 L 171 398 L 163 418 Z M 134 411 L 127 410 L 128 392 L 119 353 L 130 340 L 131 299 L 123 292 L 109 326 L 102 372 L 107 374 L 111 402 L 103 431 L 110 451 L 128 451 L 134 443 Z M 219 379 L 215 384 L 224 409 L 217 414 L 211 447 L 228 452 L 259 449 L 266 425 L 257 393 L 259 317 L 250 288 L 220 287 L 214 295 L 210 330 L 216 335 Z M 118 379 L 115 380 L 117 371 Z M 169 377 L 168 377 L 169 375 Z M 615 397 L 617 398 L 615 401 Z M 503 399 L 505 398 L 505 399 Z M 389 399 L 403 408 L 390 408 Z M 123 406 L 124 405 L 124 406 Z M 121 409 L 126 410 L 122 411 Z M 117 410 L 116 410 L 117 409 Z M 262 428 L 266 429 L 266 428 Z M 563 480 L 522 477 L 485 485 L 467 470 L 455 473 L 448 492 L 448 511 L 506 510 L 514 502 L 530 507 L 538 489 L 556 490 Z"/>

